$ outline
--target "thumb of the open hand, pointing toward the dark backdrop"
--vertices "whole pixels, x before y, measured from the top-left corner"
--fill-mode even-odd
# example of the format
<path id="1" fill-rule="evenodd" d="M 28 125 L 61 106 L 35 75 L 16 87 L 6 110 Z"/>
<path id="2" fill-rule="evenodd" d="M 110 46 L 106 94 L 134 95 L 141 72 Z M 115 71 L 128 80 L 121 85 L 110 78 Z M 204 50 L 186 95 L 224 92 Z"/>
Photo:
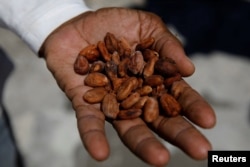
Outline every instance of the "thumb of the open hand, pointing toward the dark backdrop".
<path id="1" fill-rule="evenodd" d="M 184 52 L 179 40 L 168 30 L 156 36 L 155 49 L 161 56 L 170 57 L 175 60 L 180 73 L 186 77 L 194 73 L 195 67 Z"/>

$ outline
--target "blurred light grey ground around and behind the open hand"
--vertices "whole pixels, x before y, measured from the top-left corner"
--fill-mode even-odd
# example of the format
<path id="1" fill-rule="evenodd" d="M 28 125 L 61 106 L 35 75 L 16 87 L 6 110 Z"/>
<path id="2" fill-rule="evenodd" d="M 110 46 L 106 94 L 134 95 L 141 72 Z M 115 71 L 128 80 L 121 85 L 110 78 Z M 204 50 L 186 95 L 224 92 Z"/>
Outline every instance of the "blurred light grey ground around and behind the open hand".
<path id="1" fill-rule="evenodd" d="M 88 2 L 94 8 L 130 3 Z M 147 166 L 123 146 L 108 124 L 111 156 L 104 162 L 92 160 L 80 142 L 70 103 L 47 71 L 44 60 L 11 32 L 0 29 L 0 36 L 0 46 L 15 63 L 7 82 L 5 103 L 28 167 Z M 214 51 L 207 55 L 197 53 L 192 61 L 196 72 L 187 81 L 211 103 L 217 115 L 216 127 L 201 131 L 216 150 L 250 150 L 250 60 Z M 194 161 L 179 149 L 165 145 L 172 154 L 169 167 L 206 166 L 206 161 Z"/>

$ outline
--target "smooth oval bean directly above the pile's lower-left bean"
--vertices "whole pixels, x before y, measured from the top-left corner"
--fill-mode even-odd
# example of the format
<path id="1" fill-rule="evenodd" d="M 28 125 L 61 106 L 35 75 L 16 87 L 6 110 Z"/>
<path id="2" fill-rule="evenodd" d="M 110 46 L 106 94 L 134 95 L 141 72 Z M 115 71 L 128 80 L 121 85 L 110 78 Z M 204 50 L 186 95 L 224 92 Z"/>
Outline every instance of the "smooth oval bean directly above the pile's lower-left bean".
<path id="1" fill-rule="evenodd" d="M 91 87 L 99 87 L 99 86 L 106 86 L 109 83 L 108 78 L 106 75 L 98 72 L 89 73 L 85 80 L 85 85 L 91 86 Z"/>

